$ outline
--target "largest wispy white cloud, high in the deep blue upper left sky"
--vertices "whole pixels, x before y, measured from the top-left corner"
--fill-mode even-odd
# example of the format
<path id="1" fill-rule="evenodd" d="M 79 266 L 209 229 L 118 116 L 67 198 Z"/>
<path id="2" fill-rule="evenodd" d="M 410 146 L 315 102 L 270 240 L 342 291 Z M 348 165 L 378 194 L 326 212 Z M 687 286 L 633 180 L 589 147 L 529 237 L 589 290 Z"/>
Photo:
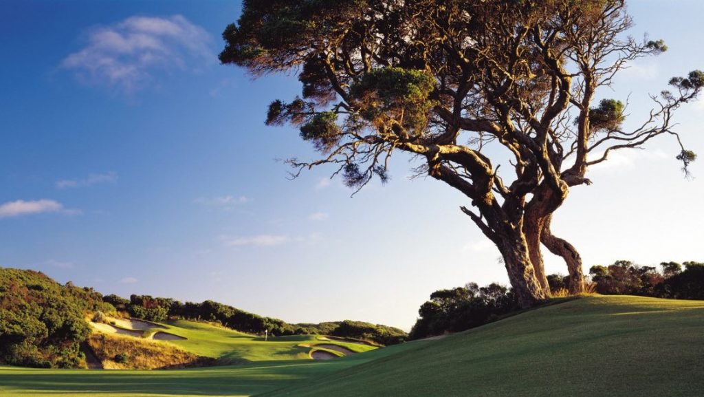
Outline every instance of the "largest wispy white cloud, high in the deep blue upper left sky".
<path id="1" fill-rule="evenodd" d="M 210 35 L 183 16 L 133 16 L 94 28 L 87 44 L 61 62 L 79 80 L 130 94 L 163 72 L 215 61 Z"/>

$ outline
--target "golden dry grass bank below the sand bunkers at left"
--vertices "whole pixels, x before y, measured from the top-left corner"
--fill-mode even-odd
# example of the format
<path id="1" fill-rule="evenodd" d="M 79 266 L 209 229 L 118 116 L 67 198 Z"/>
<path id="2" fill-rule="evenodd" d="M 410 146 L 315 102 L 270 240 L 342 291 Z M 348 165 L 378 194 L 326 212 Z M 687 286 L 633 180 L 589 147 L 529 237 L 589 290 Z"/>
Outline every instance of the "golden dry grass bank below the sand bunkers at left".
<path id="1" fill-rule="evenodd" d="M 146 341 L 131 336 L 93 334 L 88 345 L 106 369 L 163 369 L 213 365 L 204 358 L 159 341 Z M 115 356 L 126 354 L 126 362 L 115 362 Z M 119 359 L 118 359 L 119 361 Z"/>

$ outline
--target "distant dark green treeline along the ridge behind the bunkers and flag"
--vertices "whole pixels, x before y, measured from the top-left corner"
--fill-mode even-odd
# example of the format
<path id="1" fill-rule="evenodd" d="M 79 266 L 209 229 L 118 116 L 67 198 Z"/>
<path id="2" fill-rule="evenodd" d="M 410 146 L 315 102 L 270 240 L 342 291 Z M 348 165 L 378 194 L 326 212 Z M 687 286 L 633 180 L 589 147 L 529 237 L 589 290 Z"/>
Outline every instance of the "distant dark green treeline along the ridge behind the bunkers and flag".
<path id="1" fill-rule="evenodd" d="M 403 330 L 391 326 L 350 320 L 289 324 L 281 319 L 245 312 L 213 300 L 182 303 L 172 298 L 153 298 L 151 295 L 130 295 L 129 300 L 118 295 L 106 295 L 103 300 L 139 319 L 153 322 L 163 322 L 169 318 L 214 322 L 248 334 L 264 334 L 265 330 L 270 335 L 278 336 L 323 334 L 373 341 L 382 345 L 401 343 L 408 336 Z"/>

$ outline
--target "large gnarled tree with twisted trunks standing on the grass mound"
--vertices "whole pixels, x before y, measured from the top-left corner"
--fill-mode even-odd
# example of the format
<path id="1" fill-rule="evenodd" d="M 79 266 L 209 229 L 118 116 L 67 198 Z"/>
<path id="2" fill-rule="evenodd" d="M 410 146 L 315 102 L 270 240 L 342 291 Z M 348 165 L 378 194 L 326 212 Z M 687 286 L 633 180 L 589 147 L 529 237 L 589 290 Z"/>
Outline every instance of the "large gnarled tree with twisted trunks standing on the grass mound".
<path id="1" fill-rule="evenodd" d="M 322 154 L 290 159 L 294 176 L 334 164 L 358 190 L 386 181 L 401 151 L 419 175 L 463 193 L 474 208 L 460 209 L 496 244 L 528 307 L 550 293 L 541 245 L 564 259 L 572 293 L 584 287 L 579 252 L 551 231 L 570 188 L 591 184 L 589 166 L 615 150 L 659 135 L 680 142 L 673 112 L 704 85 L 700 71 L 672 78 L 625 130 L 626 106 L 596 104 L 598 90 L 667 49 L 625 37 L 630 26 L 624 0 L 246 0 L 220 61 L 298 73 L 302 96 L 267 115 L 300 126 Z M 686 171 L 696 155 L 680 146 Z"/>

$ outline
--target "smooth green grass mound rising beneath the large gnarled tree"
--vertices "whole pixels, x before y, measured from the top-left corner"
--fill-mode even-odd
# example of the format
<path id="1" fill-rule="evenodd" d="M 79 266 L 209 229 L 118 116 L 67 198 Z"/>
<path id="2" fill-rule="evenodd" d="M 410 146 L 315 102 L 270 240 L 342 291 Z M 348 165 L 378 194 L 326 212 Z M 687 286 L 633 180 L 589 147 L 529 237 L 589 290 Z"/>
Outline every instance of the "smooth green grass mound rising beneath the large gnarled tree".
<path id="1" fill-rule="evenodd" d="M 704 301 L 543 307 L 265 396 L 701 396 Z"/>

